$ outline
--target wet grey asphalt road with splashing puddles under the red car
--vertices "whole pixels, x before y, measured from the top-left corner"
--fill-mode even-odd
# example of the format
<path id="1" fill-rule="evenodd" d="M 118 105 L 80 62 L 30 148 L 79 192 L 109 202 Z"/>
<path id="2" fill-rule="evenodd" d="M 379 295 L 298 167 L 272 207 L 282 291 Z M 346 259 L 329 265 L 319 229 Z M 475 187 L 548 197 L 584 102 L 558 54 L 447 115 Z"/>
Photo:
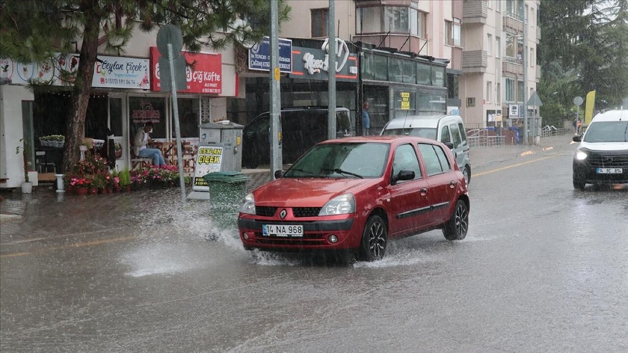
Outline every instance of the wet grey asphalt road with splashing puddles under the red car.
<path id="1" fill-rule="evenodd" d="M 205 241 L 202 205 L 156 193 L 92 231 L 51 217 L 48 240 L 3 238 L 0 350 L 627 352 L 628 190 L 573 190 L 573 149 L 477 168 L 467 239 L 376 263 Z"/>

